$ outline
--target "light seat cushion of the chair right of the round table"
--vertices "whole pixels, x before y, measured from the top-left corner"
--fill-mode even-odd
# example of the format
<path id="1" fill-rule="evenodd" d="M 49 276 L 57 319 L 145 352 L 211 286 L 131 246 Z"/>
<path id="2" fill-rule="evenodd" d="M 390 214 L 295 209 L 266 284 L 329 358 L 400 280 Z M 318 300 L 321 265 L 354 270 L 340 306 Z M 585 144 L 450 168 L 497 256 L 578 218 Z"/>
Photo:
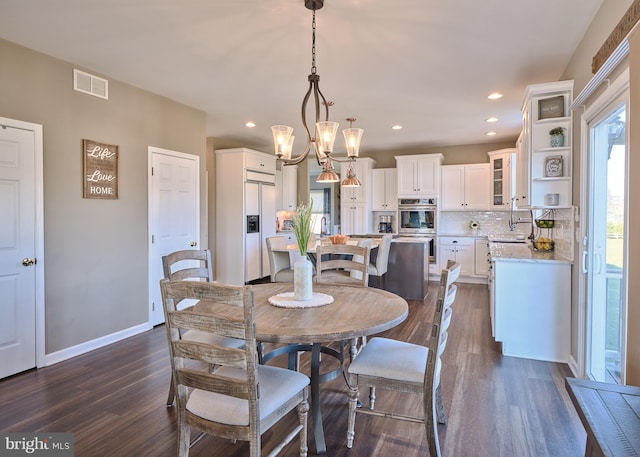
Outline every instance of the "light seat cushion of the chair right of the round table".
<path id="1" fill-rule="evenodd" d="M 429 349 L 388 338 L 372 338 L 349 366 L 350 374 L 421 383 Z"/>

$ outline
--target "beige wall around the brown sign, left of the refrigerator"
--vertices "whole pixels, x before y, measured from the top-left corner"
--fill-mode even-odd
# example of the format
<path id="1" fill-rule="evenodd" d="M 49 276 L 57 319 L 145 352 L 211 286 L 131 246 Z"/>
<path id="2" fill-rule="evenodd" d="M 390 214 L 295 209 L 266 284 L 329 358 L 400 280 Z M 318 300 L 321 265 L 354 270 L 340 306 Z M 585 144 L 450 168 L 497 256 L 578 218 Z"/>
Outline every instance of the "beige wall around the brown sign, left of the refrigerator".
<path id="1" fill-rule="evenodd" d="M 4 40 L 0 61 L 0 116 L 43 125 L 46 353 L 146 323 L 147 147 L 204 163 L 205 114 L 112 79 L 75 92 L 73 65 Z M 119 146 L 118 200 L 82 198 L 83 138 Z"/>

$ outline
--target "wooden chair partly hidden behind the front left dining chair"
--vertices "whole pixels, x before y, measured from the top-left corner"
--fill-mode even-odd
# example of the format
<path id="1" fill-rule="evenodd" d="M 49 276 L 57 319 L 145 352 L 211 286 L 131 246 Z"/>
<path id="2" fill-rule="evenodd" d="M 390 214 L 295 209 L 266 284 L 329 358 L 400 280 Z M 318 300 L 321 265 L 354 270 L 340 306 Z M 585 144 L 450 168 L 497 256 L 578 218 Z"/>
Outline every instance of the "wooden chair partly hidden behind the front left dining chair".
<path id="1" fill-rule="evenodd" d="M 165 279 L 170 281 L 200 281 L 213 282 L 213 267 L 211 262 L 211 251 L 209 249 L 187 249 L 176 251 L 162 256 L 162 270 Z M 182 307 L 190 306 L 192 303 L 183 303 Z M 233 338 L 221 338 L 217 335 L 207 334 L 199 330 L 188 330 L 182 333 L 185 340 L 202 341 L 209 343 L 219 343 L 226 346 L 241 348 L 244 341 Z M 214 368 L 213 365 L 210 366 Z M 169 394 L 167 396 L 167 406 L 172 406 L 175 400 L 175 389 L 173 380 L 169 384 Z"/>

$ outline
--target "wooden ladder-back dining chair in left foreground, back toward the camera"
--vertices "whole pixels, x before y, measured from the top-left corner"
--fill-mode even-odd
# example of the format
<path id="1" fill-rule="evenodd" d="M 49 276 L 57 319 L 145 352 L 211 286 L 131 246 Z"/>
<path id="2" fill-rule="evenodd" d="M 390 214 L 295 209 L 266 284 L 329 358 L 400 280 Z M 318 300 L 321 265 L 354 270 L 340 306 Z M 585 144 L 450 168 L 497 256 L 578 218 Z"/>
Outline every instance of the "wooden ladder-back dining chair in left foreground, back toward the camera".
<path id="1" fill-rule="evenodd" d="M 299 454 L 306 457 L 309 378 L 294 370 L 258 363 L 251 286 L 163 279 L 160 288 L 177 393 L 177 455 L 189 455 L 194 428 L 225 439 L 248 441 L 248 455 L 259 457 L 262 435 L 297 409 L 298 424 L 270 455 L 279 453 L 298 435 Z M 178 309 L 184 300 L 206 302 L 207 307 L 199 304 Z M 240 339 L 244 345 L 235 348 L 185 340 L 182 329 Z M 194 368 L 194 362 L 217 368 L 213 372 Z"/>

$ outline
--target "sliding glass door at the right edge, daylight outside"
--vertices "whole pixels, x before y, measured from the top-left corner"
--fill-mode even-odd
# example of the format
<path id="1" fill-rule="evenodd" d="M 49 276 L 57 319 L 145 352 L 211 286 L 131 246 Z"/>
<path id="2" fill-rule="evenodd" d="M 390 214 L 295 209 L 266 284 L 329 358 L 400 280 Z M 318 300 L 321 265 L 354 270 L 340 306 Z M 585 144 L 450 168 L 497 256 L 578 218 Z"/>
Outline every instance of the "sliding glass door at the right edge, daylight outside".
<path id="1" fill-rule="evenodd" d="M 626 339 L 626 97 L 588 123 L 587 373 L 618 384 Z"/>

